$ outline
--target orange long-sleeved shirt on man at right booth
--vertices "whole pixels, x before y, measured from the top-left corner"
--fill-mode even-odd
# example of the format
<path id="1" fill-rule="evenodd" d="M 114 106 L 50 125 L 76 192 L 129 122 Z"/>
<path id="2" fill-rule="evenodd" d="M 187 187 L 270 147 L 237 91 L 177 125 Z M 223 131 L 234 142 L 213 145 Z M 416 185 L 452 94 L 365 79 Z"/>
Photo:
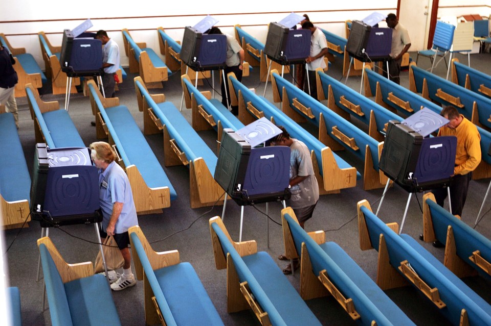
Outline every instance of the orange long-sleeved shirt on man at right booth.
<path id="1" fill-rule="evenodd" d="M 442 127 L 438 131 L 438 136 L 457 137 L 454 174 L 467 174 L 474 171 L 481 162 L 481 135 L 474 123 L 463 115 L 461 117 L 462 122 L 457 128 Z"/>

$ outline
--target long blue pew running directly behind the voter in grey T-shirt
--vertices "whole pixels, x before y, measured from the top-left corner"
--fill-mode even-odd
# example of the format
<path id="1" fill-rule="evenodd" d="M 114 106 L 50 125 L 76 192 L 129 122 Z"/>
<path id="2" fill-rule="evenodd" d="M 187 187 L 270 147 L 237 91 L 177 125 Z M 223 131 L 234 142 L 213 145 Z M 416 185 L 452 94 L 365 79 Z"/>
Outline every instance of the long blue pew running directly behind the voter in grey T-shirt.
<path id="1" fill-rule="evenodd" d="M 256 95 L 245 85 L 237 81 L 233 73 L 229 73 L 229 88 L 232 105 L 239 106 L 239 120 L 249 124 L 255 119 L 266 117 L 273 123 L 282 125 L 288 133 L 305 143 L 310 151 L 314 171 L 319 183 L 319 193 L 339 192 L 344 188 L 356 186 L 361 177 L 356 169 L 346 163 L 332 149 L 325 146 L 319 139 L 305 131 L 298 123 L 278 110 L 264 97 Z"/>

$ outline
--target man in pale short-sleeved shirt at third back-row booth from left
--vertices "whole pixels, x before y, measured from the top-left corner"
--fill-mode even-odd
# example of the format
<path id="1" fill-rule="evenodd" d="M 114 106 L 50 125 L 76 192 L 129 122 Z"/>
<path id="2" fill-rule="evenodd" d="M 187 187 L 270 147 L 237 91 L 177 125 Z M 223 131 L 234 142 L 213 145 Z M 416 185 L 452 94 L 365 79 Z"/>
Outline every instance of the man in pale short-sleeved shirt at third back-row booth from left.
<path id="1" fill-rule="evenodd" d="M 312 33 L 310 36 L 310 56 L 305 59 L 307 62 L 307 75 L 308 82 L 310 84 L 310 96 L 317 98 L 317 79 L 316 69 L 327 67 L 324 56 L 327 54 L 327 41 L 326 36 L 320 29 L 314 26 L 314 24 L 306 20 L 302 23 L 303 30 L 310 30 Z"/>

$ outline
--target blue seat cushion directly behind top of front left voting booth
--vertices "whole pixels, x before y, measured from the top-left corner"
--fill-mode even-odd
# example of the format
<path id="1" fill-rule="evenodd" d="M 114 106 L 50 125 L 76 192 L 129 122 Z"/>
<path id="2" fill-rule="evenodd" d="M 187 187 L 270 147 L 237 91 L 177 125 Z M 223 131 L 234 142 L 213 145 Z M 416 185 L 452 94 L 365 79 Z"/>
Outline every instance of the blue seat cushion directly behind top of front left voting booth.
<path id="1" fill-rule="evenodd" d="M 68 111 L 60 109 L 42 114 L 55 148 L 85 147 Z"/>

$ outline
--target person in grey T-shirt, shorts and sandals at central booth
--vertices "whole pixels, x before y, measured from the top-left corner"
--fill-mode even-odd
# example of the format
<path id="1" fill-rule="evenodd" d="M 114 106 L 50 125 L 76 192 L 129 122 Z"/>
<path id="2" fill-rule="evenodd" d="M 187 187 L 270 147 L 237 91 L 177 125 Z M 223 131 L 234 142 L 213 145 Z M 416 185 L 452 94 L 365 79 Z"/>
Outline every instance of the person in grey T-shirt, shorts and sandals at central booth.
<path id="1" fill-rule="evenodd" d="M 282 133 L 276 136 L 271 144 L 288 146 L 291 149 L 289 188 L 292 197 L 287 200 L 286 204 L 293 209 L 303 229 L 305 221 L 312 217 L 319 200 L 319 184 L 314 174 L 314 165 L 307 145 L 298 139 L 291 138 L 283 126 L 278 126 L 278 128 Z M 278 258 L 287 260 L 283 255 Z M 294 260 L 294 267 L 297 268 L 298 265 L 298 259 Z M 292 266 L 290 264 L 285 266 L 283 273 L 291 274 Z"/>

